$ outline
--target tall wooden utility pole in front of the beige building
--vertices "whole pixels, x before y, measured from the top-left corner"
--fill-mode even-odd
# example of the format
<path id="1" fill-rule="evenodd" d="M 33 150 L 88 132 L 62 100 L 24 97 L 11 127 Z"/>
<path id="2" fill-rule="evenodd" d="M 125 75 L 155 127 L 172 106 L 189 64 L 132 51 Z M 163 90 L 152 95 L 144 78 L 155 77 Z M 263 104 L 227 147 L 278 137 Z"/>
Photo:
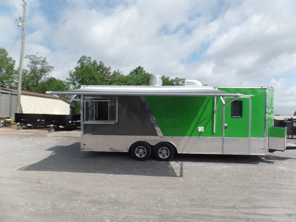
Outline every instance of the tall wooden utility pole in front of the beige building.
<path id="1" fill-rule="evenodd" d="M 20 94 L 22 89 L 22 63 L 24 60 L 24 50 L 25 50 L 25 34 L 26 34 L 26 8 L 27 2 L 22 0 L 24 4 L 22 7 L 24 8 L 23 18 L 22 18 L 22 48 L 20 51 L 20 66 L 19 66 L 19 81 L 17 85 L 17 113 L 21 112 L 21 105 L 20 105 Z"/>

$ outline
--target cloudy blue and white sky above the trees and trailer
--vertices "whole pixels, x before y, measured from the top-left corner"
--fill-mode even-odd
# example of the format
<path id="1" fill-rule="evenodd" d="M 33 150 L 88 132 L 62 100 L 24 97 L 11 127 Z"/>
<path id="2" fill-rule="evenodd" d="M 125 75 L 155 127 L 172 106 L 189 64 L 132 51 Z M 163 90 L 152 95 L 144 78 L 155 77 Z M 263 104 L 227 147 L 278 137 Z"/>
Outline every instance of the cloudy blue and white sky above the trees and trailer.
<path id="1" fill-rule="evenodd" d="M 128 75 L 269 86 L 274 114 L 296 111 L 296 0 L 27 0 L 25 55 L 65 80 L 83 55 Z M 0 48 L 19 66 L 23 1 L 0 0 Z M 23 68 L 27 68 L 24 59 Z"/>

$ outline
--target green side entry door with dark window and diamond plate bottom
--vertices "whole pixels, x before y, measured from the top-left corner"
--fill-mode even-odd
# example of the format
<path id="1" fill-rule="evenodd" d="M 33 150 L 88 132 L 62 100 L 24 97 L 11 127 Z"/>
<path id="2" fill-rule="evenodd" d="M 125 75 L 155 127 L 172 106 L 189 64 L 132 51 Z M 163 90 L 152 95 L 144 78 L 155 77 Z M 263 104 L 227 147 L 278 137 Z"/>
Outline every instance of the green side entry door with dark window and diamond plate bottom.
<path id="1" fill-rule="evenodd" d="M 225 98 L 228 102 L 232 98 Z M 223 154 L 250 154 L 251 97 L 240 97 L 224 107 Z"/>

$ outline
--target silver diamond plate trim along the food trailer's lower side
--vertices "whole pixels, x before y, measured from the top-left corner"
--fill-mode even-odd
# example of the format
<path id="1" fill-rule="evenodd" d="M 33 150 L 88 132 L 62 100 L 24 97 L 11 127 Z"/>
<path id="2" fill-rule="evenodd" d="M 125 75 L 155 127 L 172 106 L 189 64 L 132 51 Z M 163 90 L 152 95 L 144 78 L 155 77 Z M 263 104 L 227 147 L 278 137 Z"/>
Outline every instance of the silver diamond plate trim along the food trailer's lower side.
<path id="1" fill-rule="evenodd" d="M 268 152 L 268 138 L 251 138 L 250 153 L 248 138 L 225 138 L 225 140 L 227 147 L 224 146 L 224 154 L 266 155 Z M 176 146 L 178 153 L 192 154 L 222 154 L 223 144 L 222 137 L 81 135 L 81 150 L 128 152 L 128 148 L 135 141 L 147 141 L 152 146 L 167 141 Z M 265 149 L 262 149 L 263 147 Z"/>

